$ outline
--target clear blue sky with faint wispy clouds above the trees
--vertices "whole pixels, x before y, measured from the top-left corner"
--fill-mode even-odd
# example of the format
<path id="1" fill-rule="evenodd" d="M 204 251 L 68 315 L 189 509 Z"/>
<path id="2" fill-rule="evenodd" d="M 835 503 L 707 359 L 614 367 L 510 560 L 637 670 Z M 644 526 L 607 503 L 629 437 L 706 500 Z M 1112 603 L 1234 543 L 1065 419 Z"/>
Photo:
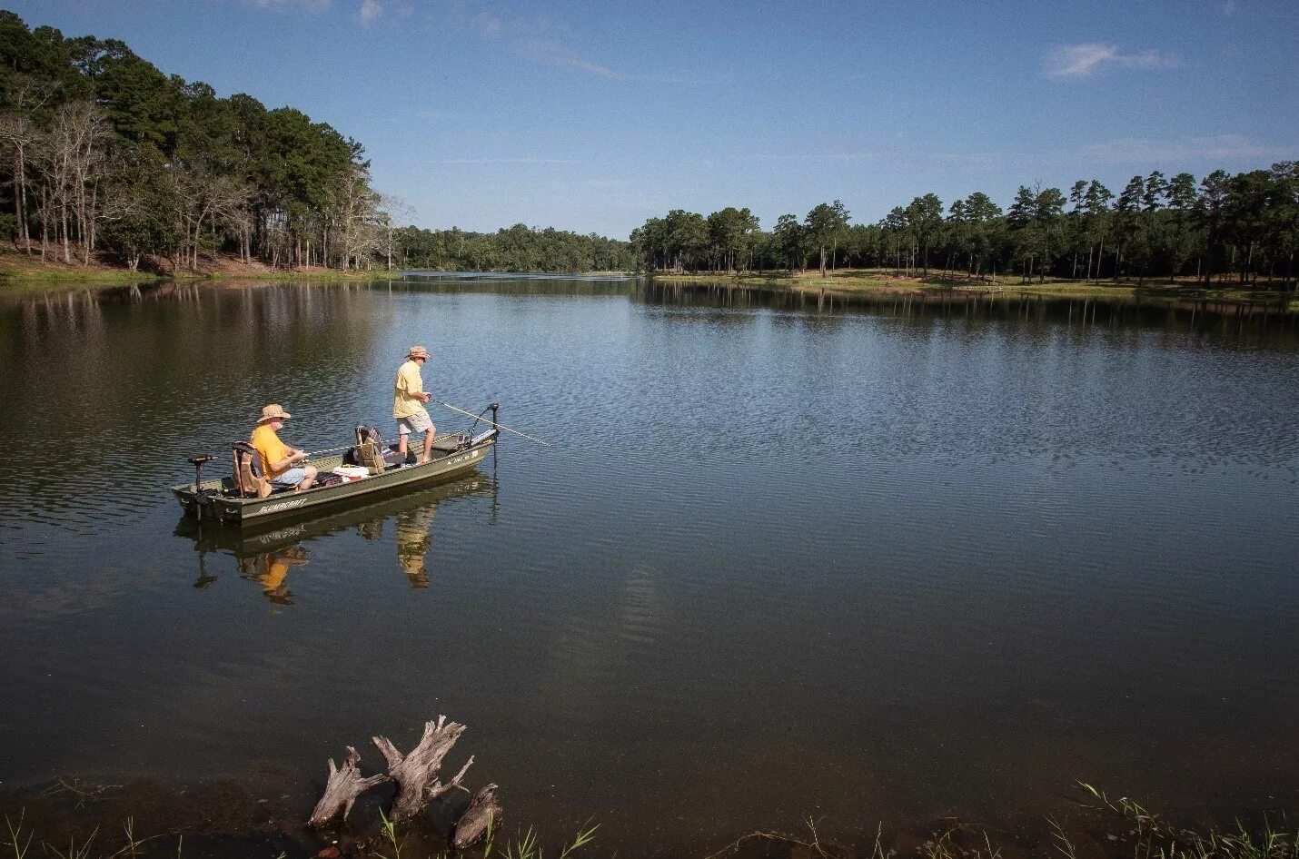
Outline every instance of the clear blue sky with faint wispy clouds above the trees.
<path id="1" fill-rule="evenodd" d="M 423 227 L 769 228 L 1299 158 L 1299 4 L 0 0 L 365 144 Z"/>

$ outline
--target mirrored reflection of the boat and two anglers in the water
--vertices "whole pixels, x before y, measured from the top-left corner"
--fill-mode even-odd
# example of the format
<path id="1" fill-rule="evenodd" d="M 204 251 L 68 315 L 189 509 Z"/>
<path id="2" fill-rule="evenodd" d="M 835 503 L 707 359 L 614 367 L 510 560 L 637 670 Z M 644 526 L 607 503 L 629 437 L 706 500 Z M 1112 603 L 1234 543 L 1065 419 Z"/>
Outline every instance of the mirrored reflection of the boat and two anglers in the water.
<path id="1" fill-rule="evenodd" d="M 472 496 L 490 497 L 495 515 L 496 480 L 474 474 L 330 515 L 317 514 L 300 522 L 279 522 L 273 529 L 261 532 L 249 533 L 247 528 L 230 528 L 213 520 L 197 522 L 191 516 L 182 516 L 175 535 L 194 540 L 195 551 L 199 553 L 195 588 L 207 588 L 220 577 L 208 570 L 209 554 L 233 555 L 240 577 L 256 583 L 273 603 L 288 606 L 294 602 L 290 572 L 310 562 L 310 542 L 346 531 L 355 531 L 365 540 L 383 540 L 385 524 L 391 519 L 397 566 L 412 588 L 427 588 L 427 555 L 433 548 L 433 523 L 438 515 L 438 505 Z"/>

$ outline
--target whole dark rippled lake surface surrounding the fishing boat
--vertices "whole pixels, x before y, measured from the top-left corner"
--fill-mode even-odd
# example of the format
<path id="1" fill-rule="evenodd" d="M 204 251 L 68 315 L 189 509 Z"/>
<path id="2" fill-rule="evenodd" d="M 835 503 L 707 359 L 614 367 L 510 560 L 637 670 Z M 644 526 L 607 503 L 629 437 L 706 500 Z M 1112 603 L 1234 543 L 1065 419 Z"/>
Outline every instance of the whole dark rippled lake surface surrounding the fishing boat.
<path id="1" fill-rule="evenodd" d="M 555 445 L 181 520 L 184 458 L 265 402 L 308 449 L 391 423 L 414 343 L 435 396 Z M 4 788 L 229 776 L 305 815 L 326 758 L 447 714 L 511 821 L 624 855 L 1021 820 L 1074 779 L 1299 808 L 1293 319 L 200 285 L 5 302 L 0 374 Z"/>

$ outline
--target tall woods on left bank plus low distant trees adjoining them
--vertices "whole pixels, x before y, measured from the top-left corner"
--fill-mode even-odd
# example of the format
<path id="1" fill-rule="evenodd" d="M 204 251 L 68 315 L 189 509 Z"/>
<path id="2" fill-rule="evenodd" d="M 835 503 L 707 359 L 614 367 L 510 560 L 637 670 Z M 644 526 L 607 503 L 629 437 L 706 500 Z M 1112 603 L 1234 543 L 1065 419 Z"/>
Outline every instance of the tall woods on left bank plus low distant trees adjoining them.
<path id="1" fill-rule="evenodd" d="M 625 241 L 399 227 L 365 148 L 294 108 L 166 75 L 125 43 L 0 10 L 0 239 L 32 257 L 200 270 L 630 269 Z"/>

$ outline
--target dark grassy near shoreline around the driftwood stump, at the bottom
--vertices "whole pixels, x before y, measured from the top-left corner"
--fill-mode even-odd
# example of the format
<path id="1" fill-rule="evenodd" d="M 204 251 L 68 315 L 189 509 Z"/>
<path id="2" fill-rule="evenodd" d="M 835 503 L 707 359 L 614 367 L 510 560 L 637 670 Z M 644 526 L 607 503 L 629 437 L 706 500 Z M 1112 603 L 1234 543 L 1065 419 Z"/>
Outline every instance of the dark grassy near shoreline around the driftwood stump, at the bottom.
<path id="1" fill-rule="evenodd" d="M 0 841 L 0 846 L 17 847 L 19 856 L 26 845 L 38 847 L 43 855 L 78 856 L 184 856 L 197 850 L 217 859 L 247 855 L 434 859 L 448 855 L 449 829 L 469 802 L 468 797 L 453 793 L 410 821 L 390 828 L 381 825 L 387 823 L 381 812 L 392 801 L 394 792 L 381 789 L 359 801 L 346 823 L 335 820 L 312 828 L 305 823 L 303 795 L 297 795 L 301 790 L 291 785 L 291 780 L 282 779 L 249 784 L 214 777 L 177 785 L 152 779 L 96 784 L 60 777 L 0 792 L 0 816 L 6 823 L 6 828 L 0 829 L 0 838 L 8 838 Z M 1290 859 L 1299 851 L 1299 833 L 1283 808 L 1208 816 L 1203 811 L 1183 810 L 1164 815 L 1137 799 L 1081 781 L 1063 789 L 1057 798 L 1047 812 L 1011 811 L 996 820 L 968 819 L 957 810 L 909 821 L 876 820 L 869 814 L 860 820 L 808 815 L 788 828 L 748 830 L 737 827 L 730 834 L 722 834 L 726 827 L 718 821 L 722 823 L 718 832 L 701 840 L 696 834 L 685 840 L 642 841 L 588 819 L 572 825 L 577 825 L 579 833 L 594 833 L 594 843 L 582 842 L 577 845 L 581 850 L 565 850 L 565 854 L 609 856 L 639 847 L 648 855 L 699 859 L 773 855 L 805 859 L 1029 859 L 1046 855 L 1065 859 L 1133 855 Z M 508 851 L 517 847 L 520 840 L 531 838 L 534 847 L 556 847 L 573 838 L 568 824 L 549 821 L 538 828 L 536 821 L 512 820 L 508 816 L 509 793 L 504 803 L 507 817 L 496 840 L 500 851 L 495 855 L 523 855 Z M 69 845 L 70 853 L 64 854 L 62 845 Z M 400 853 L 394 854 L 394 846 Z M 487 859 L 481 843 L 459 855 Z"/>

